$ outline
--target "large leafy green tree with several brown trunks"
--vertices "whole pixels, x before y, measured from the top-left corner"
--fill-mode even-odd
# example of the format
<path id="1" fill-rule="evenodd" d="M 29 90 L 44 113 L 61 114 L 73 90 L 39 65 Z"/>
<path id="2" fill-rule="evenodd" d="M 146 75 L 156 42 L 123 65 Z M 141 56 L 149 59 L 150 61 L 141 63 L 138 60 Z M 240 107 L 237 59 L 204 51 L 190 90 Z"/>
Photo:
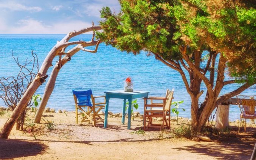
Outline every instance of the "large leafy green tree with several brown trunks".
<path id="1" fill-rule="evenodd" d="M 177 70 L 191 97 L 192 130 L 200 132 L 217 105 L 255 84 L 255 6 L 238 1 L 120 0 L 101 10 L 97 33 L 122 51 L 141 50 Z M 254 16 L 253 16 L 254 15 Z M 232 38 L 236 35 L 239 38 Z M 237 59 L 243 58 L 243 62 Z M 226 71 L 232 80 L 224 80 Z M 185 74 L 188 73 L 188 74 Z M 189 79 L 189 80 L 188 80 Z M 205 84 L 205 100 L 199 102 Z M 242 83 L 243 82 L 243 83 Z M 225 85 L 240 83 L 220 95 Z"/>

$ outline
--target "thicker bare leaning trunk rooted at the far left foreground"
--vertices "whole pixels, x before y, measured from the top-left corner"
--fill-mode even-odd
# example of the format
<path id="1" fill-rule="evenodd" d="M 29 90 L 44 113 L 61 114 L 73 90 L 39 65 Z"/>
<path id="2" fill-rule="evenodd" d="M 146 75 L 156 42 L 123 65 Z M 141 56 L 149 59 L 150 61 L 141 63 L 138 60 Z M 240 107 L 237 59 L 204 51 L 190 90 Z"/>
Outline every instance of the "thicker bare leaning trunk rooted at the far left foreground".
<path id="1" fill-rule="evenodd" d="M 42 85 L 43 82 L 45 82 L 45 79 L 47 79 L 47 71 L 49 67 L 53 66 L 52 62 L 54 57 L 59 56 L 59 61 L 57 62 L 57 65 L 59 68 L 61 68 L 61 56 L 65 55 L 64 58 L 67 59 L 67 61 L 71 60 L 71 54 L 73 52 L 78 52 L 79 50 L 84 50 L 84 51 L 90 51 L 85 49 L 84 47 L 87 46 L 95 46 L 99 45 L 99 40 L 96 41 L 90 41 L 90 42 L 85 42 L 82 40 L 79 41 L 70 41 L 71 38 L 84 34 L 93 30 L 100 30 L 100 26 L 92 26 L 92 27 L 87 27 L 85 29 L 81 30 L 74 30 L 73 32 L 70 32 L 67 34 L 61 41 L 58 41 L 57 44 L 51 49 L 51 51 L 48 53 L 47 57 L 43 61 L 42 66 L 40 67 L 39 72 L 36 75 L 36 78 L 33 79 L 29 87 L 26 89 L 25 93 L 23 94 L 22 98 L 20 99 L 19 103 L 17 104 L 15 110 L 12 112 L 12 115 L 8 119 L 8 121 L 5 123 L 3 126 L 1 132 L 0 132 L 0 138 L 8 138 L 14 124 L 16 123 L 17 119 L 19 118 L 20 114 L 25 110 L 26 105 L 28 104 L 29 100 L 32 98 L 33 94 L 36 92 L 37 88 Z M 70 50 L 66 50 L 68 46 L 73 46 Z M 96 47 L 97 48 L 97 47 Z"/>

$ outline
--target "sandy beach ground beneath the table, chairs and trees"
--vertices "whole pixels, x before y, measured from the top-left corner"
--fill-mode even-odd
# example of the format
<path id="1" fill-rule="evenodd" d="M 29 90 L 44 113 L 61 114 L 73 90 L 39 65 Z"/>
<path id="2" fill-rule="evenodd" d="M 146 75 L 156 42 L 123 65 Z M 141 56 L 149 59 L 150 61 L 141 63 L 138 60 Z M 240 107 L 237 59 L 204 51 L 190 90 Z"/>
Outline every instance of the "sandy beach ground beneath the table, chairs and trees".
<path id="1" fill-rule="evenodd" d="M 33 118 L 33 114 L 31 114 Z M 9 114 L 0 116 L 0 128 Z M 212 142 L 195 142 L 177 138 L 171 130 L 146 131 L 134 134 L 143 125 L 142 118 L 132 120 L 127 130 L 121 117 L 109 117 L 109 127 L 75 124 L 74 113 L 44 113 L 43 119 L 54 120 L 54 130 L 45 127 L 45 121 L 36 124 L 34 132 L 12 130 L 9 139 L 0 139 L 0 159 L 13 160 L 240 160 L 250 159 L 256 141 L 256 126 L 248 125 L 247 132 L 237 134 L 233 124 L 230 134 Z M 184 125 L 187 119 L 180 119 Z M 15 127 L 14 127 L 15 128 Z"/>

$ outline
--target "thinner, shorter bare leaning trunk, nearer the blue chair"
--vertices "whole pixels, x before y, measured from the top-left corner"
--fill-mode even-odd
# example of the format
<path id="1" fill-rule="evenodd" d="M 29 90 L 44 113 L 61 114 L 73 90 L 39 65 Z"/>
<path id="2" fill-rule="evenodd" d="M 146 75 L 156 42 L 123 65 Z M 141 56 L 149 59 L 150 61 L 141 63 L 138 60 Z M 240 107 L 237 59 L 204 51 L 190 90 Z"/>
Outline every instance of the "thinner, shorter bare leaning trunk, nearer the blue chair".
<path id="1" fill-rule="evenodd" d="M 43 93 L 43 98 L 42 98 L 42 101 L 41 101 L 41 103 L 39 105 L 39 108 L 36 112 L 36 116 L 34 118 L 34 123 L 40 123 L 40 121 L 41 121 L 43 111 L 44 111 L 44 109 L 47 105 L 47 102 L 48 102 L 48 100 L 51 96 L 51 93 L 53 92 L 57 75 L 59 74 L 59 71 L 61 70 L 62 66 L 64 66 L 64 64 L 66 64 L 68 61 L 70 61 L 71 57 L 84 47 L 95 46 L 96 45 L 95 50 L 92 50 L 92 51 L 91 50 L 85 50 L 85 51 L 92 52 L 92 53 L 97 51 L 100 41 L 99 40 L 95 41 L 94 36 L 95 36 L 95 32 L 93 32 L 93 37 L 92 37 L 91 41 L 87 42 L 86 44 L 84 44 L 82 46 L 78 45 L 78 46 L 74 47 L 73 49 L 69 50 L 67 52 L 68 55 L 65 55 L 64 58 L 61 59 L 60 63 L 59 62 L 56 63 L 56 65 L 54 66 L 54 69 L 51 72 L 51 76 L 50 76 L 50 78 L 49 78 L 49 80 L 48 80 L 48 82 L 45 86 L 45 91 Z"/>

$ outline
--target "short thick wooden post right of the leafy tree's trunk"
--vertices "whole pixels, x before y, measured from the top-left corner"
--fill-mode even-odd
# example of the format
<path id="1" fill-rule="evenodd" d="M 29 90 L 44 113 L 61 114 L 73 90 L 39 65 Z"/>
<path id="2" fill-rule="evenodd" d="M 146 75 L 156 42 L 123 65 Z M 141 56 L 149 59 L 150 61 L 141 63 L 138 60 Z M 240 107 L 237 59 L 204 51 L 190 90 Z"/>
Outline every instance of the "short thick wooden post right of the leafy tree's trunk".
<path id="1" fill-rule="evenodd" d="M 219 130 L 225 129 L 228 125 L 229 105 L 218 105 L 215 127 Z"/>

